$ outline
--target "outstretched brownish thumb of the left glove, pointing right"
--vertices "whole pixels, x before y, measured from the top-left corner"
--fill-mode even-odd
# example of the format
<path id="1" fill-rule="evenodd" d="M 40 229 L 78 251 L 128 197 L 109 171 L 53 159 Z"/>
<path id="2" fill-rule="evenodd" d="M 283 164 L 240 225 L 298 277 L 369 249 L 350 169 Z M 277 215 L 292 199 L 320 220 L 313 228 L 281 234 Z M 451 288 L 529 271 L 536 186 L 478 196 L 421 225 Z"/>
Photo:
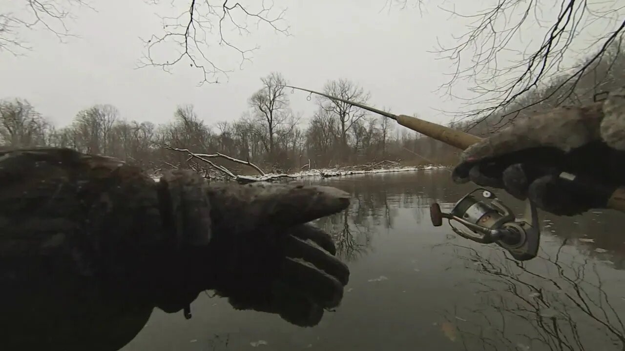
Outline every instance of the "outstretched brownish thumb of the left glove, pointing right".
<path id="1" fill-rule="evenodd" d="M 212 183 L 208 195 L 215 204 L 212 213 L 216 220 L 239 232 L 252 232 L 264 225 L 291 227 L 349 206 L 347 192 L 324 186 Z"/>

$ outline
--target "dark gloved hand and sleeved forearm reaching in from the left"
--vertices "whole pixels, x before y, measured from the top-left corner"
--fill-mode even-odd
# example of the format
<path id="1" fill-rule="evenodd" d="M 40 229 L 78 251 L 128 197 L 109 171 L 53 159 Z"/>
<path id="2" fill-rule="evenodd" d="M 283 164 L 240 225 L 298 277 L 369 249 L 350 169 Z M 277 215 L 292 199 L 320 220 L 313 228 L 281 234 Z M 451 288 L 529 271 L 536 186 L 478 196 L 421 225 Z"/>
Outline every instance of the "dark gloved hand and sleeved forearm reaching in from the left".
<path id="1" fill-rule="evenodd" d="M 349 270 L 308 222 L 348 205 L 331 187 L 155 182 L 110 157 L 2 151 L 0 349 L 118 350 L 154 307 L 187 309 L 204 290 L 316 325 Z"/>

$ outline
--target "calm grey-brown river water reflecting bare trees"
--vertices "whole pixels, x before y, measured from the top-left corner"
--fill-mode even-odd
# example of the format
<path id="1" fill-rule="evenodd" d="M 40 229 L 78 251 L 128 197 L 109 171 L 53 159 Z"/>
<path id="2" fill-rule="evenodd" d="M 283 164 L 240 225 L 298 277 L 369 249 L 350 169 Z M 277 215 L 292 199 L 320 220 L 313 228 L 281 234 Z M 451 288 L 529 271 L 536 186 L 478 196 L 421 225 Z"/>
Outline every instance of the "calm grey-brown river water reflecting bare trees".
<path id="1" fill-rule="evenodd" d="M 432 201 L 449 207 L 474 188 L 447 171 L 301 183 L 352 194 L 346 212 L 319 220 L 351 270 L 341 306 L 300 328 L 201 295 L 191 320 L 155 310 L 122 350 L 625 350 L 621 214 L 540 213 L 539 257 L 519 263 L 432 226 Z"/>

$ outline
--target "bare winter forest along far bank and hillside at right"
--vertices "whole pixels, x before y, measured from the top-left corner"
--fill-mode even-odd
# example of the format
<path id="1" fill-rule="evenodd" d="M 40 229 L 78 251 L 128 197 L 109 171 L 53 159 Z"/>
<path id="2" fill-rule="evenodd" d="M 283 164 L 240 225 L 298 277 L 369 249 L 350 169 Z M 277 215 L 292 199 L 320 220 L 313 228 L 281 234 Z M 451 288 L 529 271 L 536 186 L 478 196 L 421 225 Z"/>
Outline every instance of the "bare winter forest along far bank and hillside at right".
<path id="1" fill-rule="evenodd" d="M 529 91 L 517 100 L 514 111 L 508 106 L 486 119 L 457 121 L 450 124 L 480 136 L 496 132 L 514 119 L 545 111 L 561 104 L 592 102 L 597 92 L 610 91 L 625 84 L 625 59 L 621 41 L 607 48 L 601 60 L 591 56 L 580 62 L 587 69 L 581 77 L 562 76 Z M 589 63 L 591 62 L 591 63 Z M 192 105 L 178 106 L 173 119 L 156 125 L 120 116 L 109 104 L 79 111 L 66 127 L 56 127 L 25 99 L 0 101 L 0 144 L 8 147 L 69 147 L 81 152 L 118 157 L 148 171 L 173 167 L 206 167 L 189 160 L 184 152 L 221 152 L 249 160 L 264 171 L 299 171 L 337 166 L 352 166 L 379 161 L 399 161 L 404 165 L 424 163 L 454 164 L 458 151 L 422 136 L 396 122 L 343 102 L 316 97 L 316 112 L 304 126 L 302 116 L 292 111 L 286 79 L 273 72 L 261 79 L 262 87 L 248 99 L 249 109 L 232 121 L 206 124 Z M 562 89 L 564 87 L 564 89 Z M 370 95 L 355 82 L 329 81 L 324 92 L 363 104 Z M 427 117 L 424 117 L 427 119 Z M 218 160 L 238 171 L 244 168 Z"/>

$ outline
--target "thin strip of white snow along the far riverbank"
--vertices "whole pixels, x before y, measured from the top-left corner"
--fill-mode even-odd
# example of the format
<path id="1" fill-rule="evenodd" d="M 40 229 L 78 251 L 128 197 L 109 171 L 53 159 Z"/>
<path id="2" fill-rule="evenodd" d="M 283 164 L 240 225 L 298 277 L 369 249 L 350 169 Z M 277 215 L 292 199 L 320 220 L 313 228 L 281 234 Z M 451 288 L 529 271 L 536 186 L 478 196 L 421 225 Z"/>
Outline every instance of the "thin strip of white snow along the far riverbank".
<path id="1" fill-rule="evenodd" d="M 265 174 L 265 175 L 237 175 L 237 182 L 251 183 L 251 182 L 270 182 L 277 179 L 298 179 L 306 177 L 342 177 L 343 175 L 354 174 L 374 174 L 374 173 L 392 173 L 392 172 L 409 172 L 409 171 L 430 171 L 434 169 L 445 169 L 447 166 L 441 165 L 427 165 L 417 167 L 392 167 L 381 169 L 368 169 L 368 170 L 350 170 L 350 169 L 336 169 L 336 168 L 324 168 L 324 169 L 309 169 L 306 171 L 289 173 L 289 174 Z M 153 175 L 153 179 L 159 179 L 159 175 Z M 224 180 L 227 178 L 224 178 Z"/>

